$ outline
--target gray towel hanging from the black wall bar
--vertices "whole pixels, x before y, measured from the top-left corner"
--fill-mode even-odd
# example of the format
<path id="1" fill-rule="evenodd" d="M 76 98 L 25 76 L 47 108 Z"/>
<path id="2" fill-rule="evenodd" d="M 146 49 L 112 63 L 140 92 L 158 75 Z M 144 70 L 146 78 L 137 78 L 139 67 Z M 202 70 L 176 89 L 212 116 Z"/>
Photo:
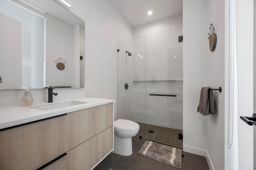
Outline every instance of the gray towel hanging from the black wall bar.
<path id="1" fill-rule="evenodd" d="M 210 90 L 210 87 L 202 87 L 201 95 L 199 100 L 199 105 L 197 108 L 197 112 L 201 113 L 201 115 L 214 115 L 217 111 L 214 109 L 215 101 L 213 99 L 213 92 Z M 208 91 L 210 90 L 210 92 Z"/>

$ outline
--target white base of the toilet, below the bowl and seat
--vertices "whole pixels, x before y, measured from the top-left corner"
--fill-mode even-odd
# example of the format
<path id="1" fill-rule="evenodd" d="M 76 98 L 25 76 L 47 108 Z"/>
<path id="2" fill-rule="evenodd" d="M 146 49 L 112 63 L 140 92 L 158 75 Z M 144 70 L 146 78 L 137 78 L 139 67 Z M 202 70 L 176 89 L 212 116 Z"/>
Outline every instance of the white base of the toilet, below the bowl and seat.
<path id="1" fill-rule="evenodd" d="M 120 138 L 114 133 L 114 150 L 115 154 L 130 156 L 132 154 L 132 138 Z"/>

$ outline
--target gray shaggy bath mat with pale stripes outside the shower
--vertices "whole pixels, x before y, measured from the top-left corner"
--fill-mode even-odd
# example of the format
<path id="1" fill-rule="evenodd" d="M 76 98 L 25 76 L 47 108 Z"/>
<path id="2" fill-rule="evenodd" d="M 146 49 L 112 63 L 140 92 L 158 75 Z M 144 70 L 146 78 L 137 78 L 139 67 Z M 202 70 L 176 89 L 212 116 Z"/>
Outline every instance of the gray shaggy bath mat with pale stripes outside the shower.
<path id="1" fill-rule="evenodd" d="M 146 140 L 138 154 L 181 168 L 182 149 Z"/>

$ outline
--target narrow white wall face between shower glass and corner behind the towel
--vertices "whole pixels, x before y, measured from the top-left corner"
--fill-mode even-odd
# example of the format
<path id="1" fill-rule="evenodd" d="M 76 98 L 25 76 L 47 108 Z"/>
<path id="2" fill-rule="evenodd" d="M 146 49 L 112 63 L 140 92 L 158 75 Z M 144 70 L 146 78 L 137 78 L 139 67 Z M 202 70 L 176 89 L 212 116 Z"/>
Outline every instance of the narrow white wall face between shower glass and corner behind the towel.
<path id="1" fill-rule="evenodd" d="M 207 1 L 183 1 L 183 144 L 200 155 L 207 149 L 207 117 L 197 112 L 201 87 L 210 84 L 207 8 Z"/>

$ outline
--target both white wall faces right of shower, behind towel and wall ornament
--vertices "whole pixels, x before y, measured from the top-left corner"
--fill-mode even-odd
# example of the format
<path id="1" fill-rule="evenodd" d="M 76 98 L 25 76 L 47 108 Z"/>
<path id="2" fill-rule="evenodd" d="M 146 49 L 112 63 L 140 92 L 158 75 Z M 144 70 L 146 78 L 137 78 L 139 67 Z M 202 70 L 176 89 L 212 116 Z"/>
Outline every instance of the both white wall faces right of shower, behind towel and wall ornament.
<path id="1" fill-rule="evenodd" d="M 210 23 L 217 35 L 214 52 L 207 39 Z M 184 151 L 206 156 L 216 170 L 224 169 L 224 29 L 224 1 L 183 1 Z M 223 89 L 214 91 L 216 115 L 206 117 L 196 111 L 203 86 Z"/>

